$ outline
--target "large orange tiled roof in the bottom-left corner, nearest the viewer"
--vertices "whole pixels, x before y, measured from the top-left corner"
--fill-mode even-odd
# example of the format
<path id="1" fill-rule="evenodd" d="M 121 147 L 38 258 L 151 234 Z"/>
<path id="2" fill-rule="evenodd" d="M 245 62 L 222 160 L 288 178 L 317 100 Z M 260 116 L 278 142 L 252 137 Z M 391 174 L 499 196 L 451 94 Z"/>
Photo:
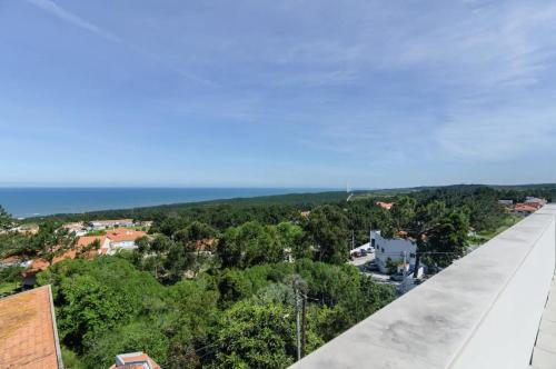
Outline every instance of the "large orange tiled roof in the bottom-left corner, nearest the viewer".
<path id="1" fill-rule="evenodd" d="M 61 368 L 50 286 L 0 299 L 2 368 Z"/>

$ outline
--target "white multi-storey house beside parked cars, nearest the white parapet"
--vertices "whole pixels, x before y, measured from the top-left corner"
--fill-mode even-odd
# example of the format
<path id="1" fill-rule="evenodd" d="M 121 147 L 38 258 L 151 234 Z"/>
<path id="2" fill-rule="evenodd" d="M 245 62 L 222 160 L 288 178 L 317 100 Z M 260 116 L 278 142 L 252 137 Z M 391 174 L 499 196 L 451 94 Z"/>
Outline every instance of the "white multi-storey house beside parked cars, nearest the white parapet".
<path id="1" fill-rule="evenodd" d="M 383 273 L 389 271 L 388 260 L 403 265 L 405 259 L 409 263 L 409 270 L 415 267 L 417 242 L 410 238 L 384 238 L 379 230 L 373 230 L 370 246 L 375 248 L 375 260 Z"/>

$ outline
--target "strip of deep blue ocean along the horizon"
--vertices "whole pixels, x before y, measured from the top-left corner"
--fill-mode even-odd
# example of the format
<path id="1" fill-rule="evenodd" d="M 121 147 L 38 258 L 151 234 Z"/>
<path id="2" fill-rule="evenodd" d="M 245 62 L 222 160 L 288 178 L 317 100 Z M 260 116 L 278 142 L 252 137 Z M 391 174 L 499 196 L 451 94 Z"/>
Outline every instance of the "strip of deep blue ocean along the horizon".
<path id="1" fill-rule="evenodd" d="M 14 218 L 128 209 L 269 195 L 321 192 L 300 188 L 0 188 L 0 206 Z"/>

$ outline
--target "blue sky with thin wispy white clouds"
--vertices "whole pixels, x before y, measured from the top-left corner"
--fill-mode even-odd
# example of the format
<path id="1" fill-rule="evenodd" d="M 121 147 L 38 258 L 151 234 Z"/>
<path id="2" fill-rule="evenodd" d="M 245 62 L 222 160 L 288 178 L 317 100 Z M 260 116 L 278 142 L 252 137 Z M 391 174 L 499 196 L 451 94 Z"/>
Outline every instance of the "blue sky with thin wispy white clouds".
<path id="1" fill-rule="evenodd" d="M 556 182 L 556 2 L 0 0 L 0 186 Z"/>

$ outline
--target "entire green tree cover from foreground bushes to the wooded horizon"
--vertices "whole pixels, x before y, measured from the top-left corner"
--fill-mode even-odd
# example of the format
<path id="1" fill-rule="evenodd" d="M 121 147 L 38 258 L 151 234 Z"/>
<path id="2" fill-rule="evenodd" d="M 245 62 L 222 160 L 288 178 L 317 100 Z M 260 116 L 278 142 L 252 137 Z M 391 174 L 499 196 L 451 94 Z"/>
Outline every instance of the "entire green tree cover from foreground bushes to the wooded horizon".
<path id="1" fill-rule="evenodd" d="M 507 222 L 498 199 L 550 193 L 457 186 L 360 192 L 348 202 L 341 192 L 265 197 L 34 219 L 37 235 L 9 231 L 14 221 L 0 208 L 0 259 L 52 263 L 75 245 L 62 221 L 153 220 L 132 252 L 81 255 L 38 276 L 52 285 L 67 366 L 109 367 L 117 353 L 142 350 L 165 368 L 282 368 L 297 357 L 300 301 L 307 353 L 395 298 L 346 263 L 370 229 L 414 237 L 435 271 L 467 252 L 471 228 L 494 233 Z M 0 285 L 18 283 L 20 272 L 2 269 Z"/>

